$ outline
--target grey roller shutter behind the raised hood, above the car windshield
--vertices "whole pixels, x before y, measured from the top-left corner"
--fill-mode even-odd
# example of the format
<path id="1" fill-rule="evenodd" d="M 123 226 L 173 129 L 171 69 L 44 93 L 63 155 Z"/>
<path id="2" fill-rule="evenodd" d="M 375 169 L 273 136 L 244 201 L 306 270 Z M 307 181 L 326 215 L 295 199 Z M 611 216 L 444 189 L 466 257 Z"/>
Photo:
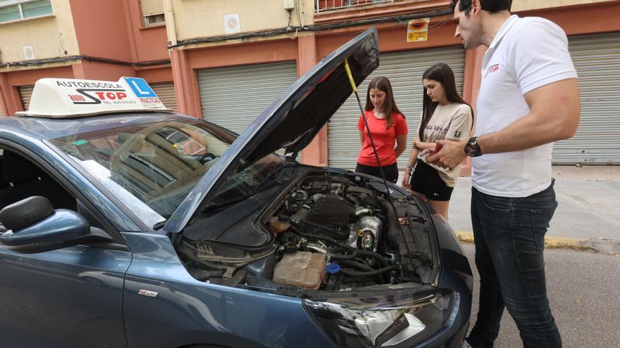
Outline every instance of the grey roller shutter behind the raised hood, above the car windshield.
<path id="1" fill-rule="evenodd" d="M 202 116 L 241 134 L 295 81 L 294 62 L 200 70 Z"/>

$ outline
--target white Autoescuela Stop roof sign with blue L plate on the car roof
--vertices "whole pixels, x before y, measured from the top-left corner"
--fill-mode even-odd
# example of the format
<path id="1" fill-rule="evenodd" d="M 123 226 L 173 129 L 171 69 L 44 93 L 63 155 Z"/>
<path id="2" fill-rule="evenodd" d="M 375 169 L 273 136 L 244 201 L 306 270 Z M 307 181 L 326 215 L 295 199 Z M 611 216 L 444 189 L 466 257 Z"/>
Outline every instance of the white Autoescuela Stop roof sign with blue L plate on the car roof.
<path id="1" fill-rule="evenodd" d="M 118 82 L 46 78 L 35 84 L 28 110 L 16 115 L 70 118 L 128 111 L 171 112 L 139 77 L 121 77 Z"/>

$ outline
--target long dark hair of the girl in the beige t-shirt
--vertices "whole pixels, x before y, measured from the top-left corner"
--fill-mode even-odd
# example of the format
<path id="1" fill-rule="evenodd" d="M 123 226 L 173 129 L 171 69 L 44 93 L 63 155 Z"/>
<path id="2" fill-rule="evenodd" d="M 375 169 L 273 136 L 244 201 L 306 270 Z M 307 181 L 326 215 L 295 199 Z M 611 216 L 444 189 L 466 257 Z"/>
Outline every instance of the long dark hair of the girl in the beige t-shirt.
<path id="1" fill-rule="evenodd" d="M 473 127 L 473 109 L 469 103 L 464 101 L 463 98 L 459 96 L 459 93 L 457 92 L 457 85 L 454 82 L 454 72 L 452 72 L 449 65 L 445 63 L 437 63 L 432 67 L 429 67 L 422 75 L 422 80 L 424 79 L 433 79 L 439 82 L 443 86 L 447 100 L 450 103 L 461 103 L 469 106 L 469 109 L 471 110 L 471 124 Z M 430 121 L 430 117 L 433 116 L 433 112 L 435 112 L 438 104 L 439 102 L 433 102 L 430 100 L 430 96 L 426 94 L 426 87 L 424 87 L 424 97 L 422 99 L 422 120 L 418 131 L 418 137 L 420 140 L 423 139 L 422 136 L 424 134 L 424 129 L 426 128 L 428 121 Z"/>

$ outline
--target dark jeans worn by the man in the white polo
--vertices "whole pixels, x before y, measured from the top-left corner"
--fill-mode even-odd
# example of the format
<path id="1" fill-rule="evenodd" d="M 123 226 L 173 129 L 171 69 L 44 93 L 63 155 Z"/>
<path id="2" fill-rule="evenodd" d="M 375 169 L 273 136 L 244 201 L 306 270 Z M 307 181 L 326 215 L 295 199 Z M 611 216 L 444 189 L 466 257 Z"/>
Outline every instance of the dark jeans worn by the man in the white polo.
<path id="1" fill-rule="evenodd" d="M 523 347 L 562 347 L 547 299 L 545 233 L 557 202 L 553 181 L 525 198 L 471 189 L 471 221 L 480 273 L 480 305 L 468 342 L 492 347 L 504 307 L 519 328 Z"/>

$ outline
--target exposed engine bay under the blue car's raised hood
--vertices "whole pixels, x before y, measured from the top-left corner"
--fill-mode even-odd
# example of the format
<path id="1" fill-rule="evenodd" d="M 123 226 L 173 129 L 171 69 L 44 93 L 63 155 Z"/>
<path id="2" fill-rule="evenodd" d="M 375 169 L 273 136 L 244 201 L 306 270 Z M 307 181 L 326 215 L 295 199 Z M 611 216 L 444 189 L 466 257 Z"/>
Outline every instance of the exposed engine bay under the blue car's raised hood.
<path id="1" fill-rule="evenodd" d="M 264 247 L 184 238 L 177 249 L 198 280 L 280 295 L 432 283 L 428 214 L 414 196 L 390 200 L 378 183 L 310 173 L 254 214 L 252 233 L 268 235 Z"/>

